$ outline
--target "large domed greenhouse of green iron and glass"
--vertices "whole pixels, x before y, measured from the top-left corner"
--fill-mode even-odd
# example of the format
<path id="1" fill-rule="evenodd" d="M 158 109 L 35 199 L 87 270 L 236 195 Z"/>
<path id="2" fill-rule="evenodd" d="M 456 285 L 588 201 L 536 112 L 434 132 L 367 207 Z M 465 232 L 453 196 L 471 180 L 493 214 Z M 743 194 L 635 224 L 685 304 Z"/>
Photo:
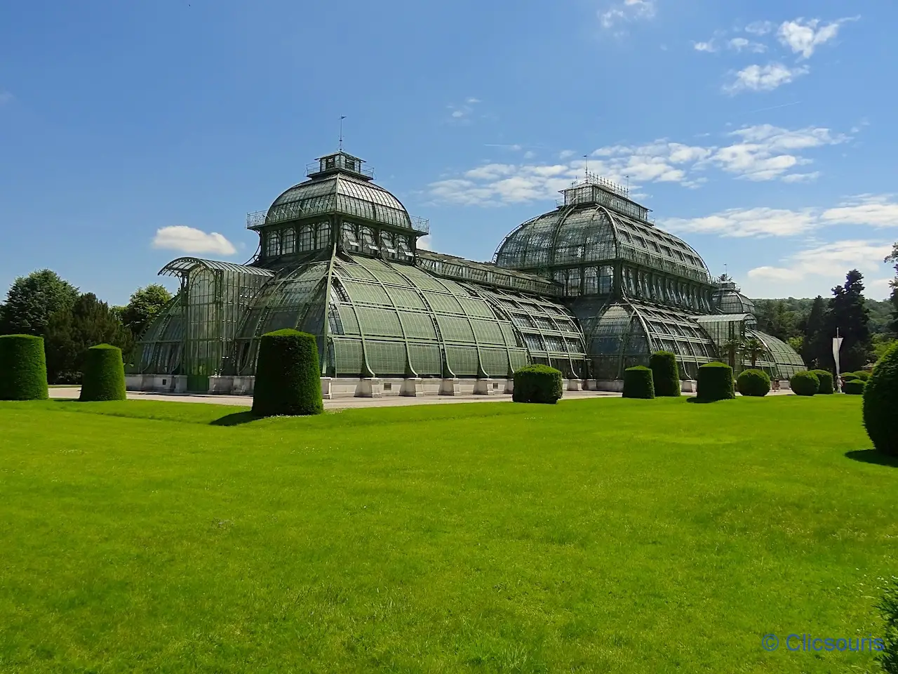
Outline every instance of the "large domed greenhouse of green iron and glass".
<path id="1" fill-rule="evenodd" d="M 586 175 L 499 244 L 493 262 L 418 248 L 427 220 L 374 183 L 356 156 L 326 155 L 307 180 L 247 216 L 251 262 L 181 257 L 180 291 L 146 329 L 128 387 L 251 393 L 261 335 L 318 339 L 321 388 L 342 395 L 510 393 L 516 368 L 559 368 L 568 389 L 620 390 L 623 370 L 677 354 L 697 368 L 751 336 L 756 367 L 804 364 L 758 332 L 753 303 L 611 182 Z"/>

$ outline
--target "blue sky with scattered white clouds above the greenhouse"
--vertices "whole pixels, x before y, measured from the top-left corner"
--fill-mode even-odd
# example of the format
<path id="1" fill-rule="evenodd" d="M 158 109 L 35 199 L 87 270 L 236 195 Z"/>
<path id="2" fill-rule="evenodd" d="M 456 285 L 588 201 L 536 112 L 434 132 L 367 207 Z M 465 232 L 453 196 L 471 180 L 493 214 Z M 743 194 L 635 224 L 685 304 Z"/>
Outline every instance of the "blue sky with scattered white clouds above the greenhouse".
<path id="1" fill-rule="evenodd" d="M 121 304 L 180 254 L 245 262 L 246 213 L 346 115 L 440 252 L 489 260 L 588 155 L 753 297 L 858 267 L 884 298 L 896 24 L 882 0 L 6 3 L 0 287 L 49 267 Z"/>

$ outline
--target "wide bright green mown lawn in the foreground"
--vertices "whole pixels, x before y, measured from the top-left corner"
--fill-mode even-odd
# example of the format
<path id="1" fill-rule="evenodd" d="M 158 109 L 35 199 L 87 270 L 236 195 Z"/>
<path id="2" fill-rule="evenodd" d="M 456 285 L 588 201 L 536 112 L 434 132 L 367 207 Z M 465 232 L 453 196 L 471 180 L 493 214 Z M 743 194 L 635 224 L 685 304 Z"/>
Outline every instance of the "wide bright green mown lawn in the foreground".
<path id="1" fill-rule="evenodd" d="M 878 634 L 856 396 L 244 421 L 0 404 L 0 670 L 876 671 L 761 647 Z"/>

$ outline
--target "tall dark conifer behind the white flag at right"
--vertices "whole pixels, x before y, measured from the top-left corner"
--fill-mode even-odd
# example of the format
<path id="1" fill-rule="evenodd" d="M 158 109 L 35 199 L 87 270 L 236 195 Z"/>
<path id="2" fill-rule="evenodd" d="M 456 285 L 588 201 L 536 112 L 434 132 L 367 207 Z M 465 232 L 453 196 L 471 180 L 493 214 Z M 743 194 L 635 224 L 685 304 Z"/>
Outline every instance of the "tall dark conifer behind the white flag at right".
<path id="1" fill-rule="evenodd" d="M 864 303 L 864 275 L 853 269 L 845 275 L 845 283 L 832 288 L 830 310 L 824 321 L 825 337 L 839 335 L 842 340 L 839 355 L 842 372 L 852 372 L 867 365 L 871 357 L 869 313 Z M 827 340 L 828 341 L 828 340 Z M 830 342 L 832 343 L 832 342 Z M 832 362 L 832 356 L 830 357 Z M 829 369 L 829 363 L 818 367 Z"/>

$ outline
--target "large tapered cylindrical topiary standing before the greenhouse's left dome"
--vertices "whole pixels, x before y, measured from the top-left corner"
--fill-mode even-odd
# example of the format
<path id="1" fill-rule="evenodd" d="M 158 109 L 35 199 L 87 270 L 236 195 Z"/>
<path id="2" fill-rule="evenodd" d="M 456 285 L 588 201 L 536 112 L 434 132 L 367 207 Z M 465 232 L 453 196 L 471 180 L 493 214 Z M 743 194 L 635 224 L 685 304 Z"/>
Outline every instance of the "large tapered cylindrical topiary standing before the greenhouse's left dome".
<path id="1" fill-rule="evenodd" d="M 252 413 L 259 417 L 321 414 L 318 343 L 311 334 L 277 330 L 259 343 Z"/>

